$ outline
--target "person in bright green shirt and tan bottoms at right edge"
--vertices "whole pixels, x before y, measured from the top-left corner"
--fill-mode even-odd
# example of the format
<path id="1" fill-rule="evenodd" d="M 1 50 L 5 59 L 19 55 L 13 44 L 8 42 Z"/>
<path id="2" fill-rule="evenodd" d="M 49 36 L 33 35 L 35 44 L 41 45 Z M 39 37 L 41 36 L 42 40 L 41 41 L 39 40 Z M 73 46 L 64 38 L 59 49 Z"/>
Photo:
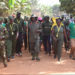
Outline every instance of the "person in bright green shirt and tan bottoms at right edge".
<path id="1" fill-rule="evenodd" d="M 70 39 L 71 39 L 71 52 L 70 57 L 73 57 L 75 59 L 75 20 L 74 23 L 70 23 Z"/>

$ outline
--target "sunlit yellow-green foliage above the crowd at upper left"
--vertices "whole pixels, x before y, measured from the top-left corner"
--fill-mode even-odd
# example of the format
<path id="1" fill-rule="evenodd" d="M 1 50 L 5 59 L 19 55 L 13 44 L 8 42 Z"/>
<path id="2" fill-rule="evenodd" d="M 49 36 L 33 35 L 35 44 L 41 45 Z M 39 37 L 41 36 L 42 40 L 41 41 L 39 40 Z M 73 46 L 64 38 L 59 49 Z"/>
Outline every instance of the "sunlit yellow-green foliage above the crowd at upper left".
<path id="1" fill-rule="evenodd" d="M 0 0 L 0 16 L 11 15 L 21 11 L 24 15 L 31 15 L 31 3 L 29 0 Z M 8 16 L 6 15 L 6 16 Z"/>

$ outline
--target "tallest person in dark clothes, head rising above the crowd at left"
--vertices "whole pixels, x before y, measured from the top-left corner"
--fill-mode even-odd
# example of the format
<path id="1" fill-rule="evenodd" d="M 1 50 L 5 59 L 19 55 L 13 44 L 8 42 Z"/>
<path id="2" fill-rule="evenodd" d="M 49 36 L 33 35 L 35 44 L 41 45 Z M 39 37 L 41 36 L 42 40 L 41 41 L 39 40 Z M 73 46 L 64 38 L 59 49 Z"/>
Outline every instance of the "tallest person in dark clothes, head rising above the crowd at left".
<path id="1" fill-rule="evenodd" d="M 21 18 L 21 13 L 17 12 L 16 18 L 14 19 L 14 22 L 18 26 L 18 37 L 17 37 L 17 44 L 16 44 L 16 53 L 20 56 L 22 56 L 22 44 L 23 44 L 23 30 L 25 30 L 24 27 L 24 20 Z"/>

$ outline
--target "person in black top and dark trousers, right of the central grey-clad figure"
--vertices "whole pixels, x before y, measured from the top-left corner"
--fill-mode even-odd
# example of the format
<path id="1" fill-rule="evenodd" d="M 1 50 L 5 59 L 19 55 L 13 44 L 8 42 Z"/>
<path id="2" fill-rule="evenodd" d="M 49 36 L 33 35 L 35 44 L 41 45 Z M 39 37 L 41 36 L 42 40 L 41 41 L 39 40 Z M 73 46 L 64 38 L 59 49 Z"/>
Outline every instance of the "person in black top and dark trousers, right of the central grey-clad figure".
<path id="1" fill-rule="evenodd" d="M 44 23 L 42 23 L 42 35 L 43 35 L 43 44 L 45 53 L 51 54 L 51 42 L 50 42 L 50 34 L 51 34 L 51 23 L 49 22 L 49 17 L 45 17 Z"/>

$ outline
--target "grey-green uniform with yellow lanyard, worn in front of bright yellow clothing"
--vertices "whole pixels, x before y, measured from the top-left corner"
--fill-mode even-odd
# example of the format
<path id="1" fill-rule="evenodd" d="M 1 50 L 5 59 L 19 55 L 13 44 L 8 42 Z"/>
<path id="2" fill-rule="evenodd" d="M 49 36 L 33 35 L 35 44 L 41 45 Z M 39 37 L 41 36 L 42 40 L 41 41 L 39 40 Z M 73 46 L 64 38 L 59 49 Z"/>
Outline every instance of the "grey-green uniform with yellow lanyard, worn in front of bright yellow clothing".
<path id="1" fill-rule="evenodd" d="M 53 46 L 55 51 L 55 58 L 58 57 L 58 60 L 60 61 L 61 53 L 62 53 L 62 45 L 64 42 L 64 26 L 60 26 L 60 30 L 58 32 L 57 26 L 53 27 L 54 30 L 54 37 L 56 40 L 53 40 Z"/>

